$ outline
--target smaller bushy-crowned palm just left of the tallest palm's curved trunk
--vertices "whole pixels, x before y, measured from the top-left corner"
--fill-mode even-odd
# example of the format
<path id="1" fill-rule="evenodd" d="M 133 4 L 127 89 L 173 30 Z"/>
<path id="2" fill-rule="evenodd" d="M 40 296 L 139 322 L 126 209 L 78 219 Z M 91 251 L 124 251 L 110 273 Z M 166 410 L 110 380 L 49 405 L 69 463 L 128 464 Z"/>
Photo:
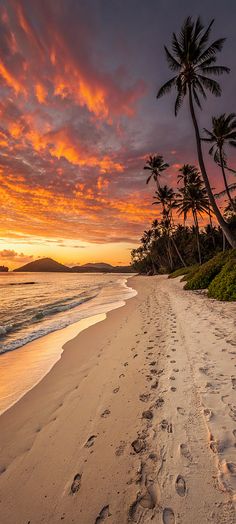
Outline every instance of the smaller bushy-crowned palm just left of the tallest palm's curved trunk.
<path id="1" fill-rule="evenodd" d="M 177 207 L 179 209 L 179 215 L 184 215 L 186 220 L 188 214 L 191 212 L 193 216 L 193 222 L 196 231 L 197 249 L 199 264 L 202 263 L 200 238 L 199 238 L 199 224 L 198 215 L 202 213 L 209 213 L 209 199 L 203 182 L 200 180 L 198 174 L 196 182 L 187 183 L 184 187 L 179 189 L 179 198 L 177 201 Z"/>

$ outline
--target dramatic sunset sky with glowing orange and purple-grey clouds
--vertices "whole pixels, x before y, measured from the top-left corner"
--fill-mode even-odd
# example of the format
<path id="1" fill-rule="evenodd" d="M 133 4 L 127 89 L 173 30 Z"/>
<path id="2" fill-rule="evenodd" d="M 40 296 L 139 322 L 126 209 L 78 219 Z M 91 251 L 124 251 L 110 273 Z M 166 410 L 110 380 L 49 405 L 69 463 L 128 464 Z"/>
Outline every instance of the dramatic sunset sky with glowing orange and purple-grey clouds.
<path id="1" fill-rule="evenodd" d="M 156 100 L 163 46 L 188 15 L 227 37 L 231 74 L 198 114 L 210 128 L 236 111 L 233 0 L 0 0 L 0 264 L 129 263 L 158 215 L 147 156 L 163 154 L 173 186 L 197 163 L 188 107 L 175 118 L 173 95 Z M 207 150 L 206 163 L 221 189 Z"/>

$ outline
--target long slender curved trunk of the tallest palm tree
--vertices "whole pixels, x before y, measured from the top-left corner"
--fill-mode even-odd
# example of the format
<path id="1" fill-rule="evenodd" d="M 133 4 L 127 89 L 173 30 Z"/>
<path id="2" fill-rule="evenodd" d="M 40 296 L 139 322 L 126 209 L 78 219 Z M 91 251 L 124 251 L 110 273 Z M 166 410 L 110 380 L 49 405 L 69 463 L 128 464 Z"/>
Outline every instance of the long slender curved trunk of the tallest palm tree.
<path id="1" fill-rule="evenodd" d="M 206 168 L 205 168 L 205 164 L 204 164 L 204 160 L 203 160 L 201 138 L 200 138 L 198 123 L 197 123 L 197 119 L 196 119 L 196 115 L 195 115 L 195 111 L 194 111 L 191 84 L 189 84 L 188 87 L 189 87 L 190 113 L 191 113 L 191 117 L 192 117 L 192 121 L 193 121 L 193 126 L 194 126 L 195 136 L 196 136 L 196 142 L 197 142 L 198 161 L 199 161 L 199 166 L 200 166 L 200 169 L 201 169 L 202 177 L 203 177 L 203 180 L 204 180 L 204 183 L 205 183 L 205 186 L 206 186 L 206 190 L 207 190 L 207 193 L 208 193 L 208 198 L 210 200 L 210 203 L 211 203 L 212 209 L 213 209 L 213 211 L 215 213 L 215 216 L 216 216 L 216 218 L 217 218 L 221 228 L 223 229 L 224 234 L 225 234 L 228 242 L 230 243 L 230 245 L 232 247 L 236 247 L 236 238 L 235 238 L 234 234 L 230 231 L 230 229 L 228 227 L 228 224 L 225 222 L 225 220 L 224 220 L 224 218 L 223 218 L 223 216 L 222 216 L 222 214 L 221 214 L 221 212 L 220 212 L 220 210 L 219 210 L 219 208 L 218 208 L 218 206 L 216 204 L 214 195 L 212 193 L 212 189 L 211 189 L 211 186 L 210 186 L 210 182 L 209 182 L 209 179 L 208 179 L 208 176 L 207 176 L 207 172 L 206 172 Z"/>

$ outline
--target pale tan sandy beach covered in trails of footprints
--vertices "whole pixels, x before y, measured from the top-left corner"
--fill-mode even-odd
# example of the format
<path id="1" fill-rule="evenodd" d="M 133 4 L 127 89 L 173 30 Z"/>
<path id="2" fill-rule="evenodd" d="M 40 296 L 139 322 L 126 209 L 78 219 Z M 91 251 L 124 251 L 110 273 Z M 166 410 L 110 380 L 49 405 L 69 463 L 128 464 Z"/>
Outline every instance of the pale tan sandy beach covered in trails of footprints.
<path id="1" fill-rule="evenodd" d="M 1 524 L 236 522 L 235 305 L 130 285 L 0 417 Z"/>

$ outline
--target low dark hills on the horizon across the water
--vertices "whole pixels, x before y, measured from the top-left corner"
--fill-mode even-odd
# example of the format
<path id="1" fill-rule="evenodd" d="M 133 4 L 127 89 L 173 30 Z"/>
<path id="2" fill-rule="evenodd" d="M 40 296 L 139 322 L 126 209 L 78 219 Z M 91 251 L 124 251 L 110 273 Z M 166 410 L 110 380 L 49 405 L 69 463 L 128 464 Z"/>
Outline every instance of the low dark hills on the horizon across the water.
<path id="1" fill-rule="evenodd" d="M 68 267 L 52 258 L 40 258 L 14 269 L 15 272 L 37 273 L 132 273 L 131 266 L 112 266 L 105 262 L 87 263 L 82 266 Z"/>

